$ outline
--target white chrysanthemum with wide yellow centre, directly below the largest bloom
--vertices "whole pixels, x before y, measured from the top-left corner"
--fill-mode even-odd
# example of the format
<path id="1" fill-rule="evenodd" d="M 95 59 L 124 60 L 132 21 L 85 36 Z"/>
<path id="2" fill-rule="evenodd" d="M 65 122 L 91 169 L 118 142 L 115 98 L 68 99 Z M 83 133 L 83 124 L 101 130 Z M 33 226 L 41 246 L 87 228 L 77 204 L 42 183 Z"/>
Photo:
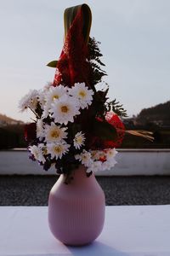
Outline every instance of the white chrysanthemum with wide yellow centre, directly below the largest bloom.
<path id="1" fill-rule="evenodd" d="M 45 140 L 47 143 L 59 143 L 62 139 L 67 137 L 67 128 L 61 127 L 51 123 L 45 126 Z"/>

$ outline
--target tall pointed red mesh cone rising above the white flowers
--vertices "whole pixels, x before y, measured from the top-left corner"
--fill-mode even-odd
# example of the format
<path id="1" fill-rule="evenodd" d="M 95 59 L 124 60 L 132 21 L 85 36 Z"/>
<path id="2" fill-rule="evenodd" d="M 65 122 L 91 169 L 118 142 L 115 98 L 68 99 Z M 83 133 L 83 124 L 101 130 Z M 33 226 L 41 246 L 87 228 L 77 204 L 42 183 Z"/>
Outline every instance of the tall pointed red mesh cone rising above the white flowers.
<path id="1" fill-rule="evenodd" d="M 71 27 L 66 35 L 54 76 L 54 86 L 64 84 L 69 87 L 75 83 L 89 84 L 90 65 L 86 61 L 88 45 L 82 35 L 82 10 L 77 12 Z"/>

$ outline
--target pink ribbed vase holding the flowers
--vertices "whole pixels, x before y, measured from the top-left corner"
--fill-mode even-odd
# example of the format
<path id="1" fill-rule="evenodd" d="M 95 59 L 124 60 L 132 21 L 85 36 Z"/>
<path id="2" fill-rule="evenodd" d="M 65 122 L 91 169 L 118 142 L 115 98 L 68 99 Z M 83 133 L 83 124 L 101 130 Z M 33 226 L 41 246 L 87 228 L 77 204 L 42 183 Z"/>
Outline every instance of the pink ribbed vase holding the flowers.
<path id="1" fill-rule="evenodd" d="M 48 224 L 53 235 L 63 243 L 80 246 L 94 241 L 105 221 L 105 195 L 94 173 L 86 176 L 79 166 L 74 179 L 65 184 L 64 175 L 51 189 L 48 198 Z"/>

